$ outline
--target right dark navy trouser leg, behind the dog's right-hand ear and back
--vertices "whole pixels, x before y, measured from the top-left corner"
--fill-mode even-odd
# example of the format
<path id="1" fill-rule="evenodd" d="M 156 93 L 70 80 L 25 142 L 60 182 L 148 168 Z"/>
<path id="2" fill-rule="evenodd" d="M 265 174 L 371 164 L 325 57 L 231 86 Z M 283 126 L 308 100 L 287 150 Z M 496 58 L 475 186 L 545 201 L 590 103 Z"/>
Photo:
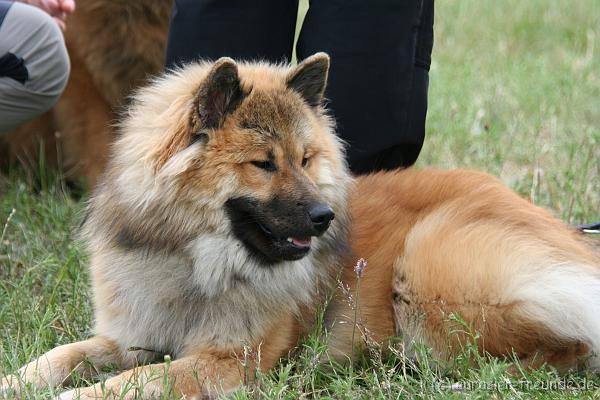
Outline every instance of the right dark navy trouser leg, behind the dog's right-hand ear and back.
<path id="1" fill-rule="evenodd" d="M 331 56 L 327 96 L 355 173 L 414 163 L 424 139 L 433 0 L 315 0 L 298 56 Z"/>

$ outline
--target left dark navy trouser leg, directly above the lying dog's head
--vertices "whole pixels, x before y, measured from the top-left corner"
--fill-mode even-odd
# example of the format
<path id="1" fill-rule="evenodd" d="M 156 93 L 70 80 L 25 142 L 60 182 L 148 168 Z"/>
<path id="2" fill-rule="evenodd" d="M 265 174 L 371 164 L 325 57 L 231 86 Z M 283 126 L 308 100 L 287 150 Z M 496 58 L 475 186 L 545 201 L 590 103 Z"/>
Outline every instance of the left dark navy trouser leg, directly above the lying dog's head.
<path id="1" fill-rule="evenodd" d="M 166 65 L 223 56 L 289 60 L 297 14 L 298 0 L 177 0 Z"/>

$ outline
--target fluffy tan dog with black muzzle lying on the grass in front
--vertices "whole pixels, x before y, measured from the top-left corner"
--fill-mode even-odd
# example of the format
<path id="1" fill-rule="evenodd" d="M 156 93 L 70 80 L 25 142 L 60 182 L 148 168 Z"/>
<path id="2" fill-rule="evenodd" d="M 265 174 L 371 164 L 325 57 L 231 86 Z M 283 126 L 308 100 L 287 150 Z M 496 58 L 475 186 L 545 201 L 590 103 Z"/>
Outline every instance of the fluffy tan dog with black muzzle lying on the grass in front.
<path id="1" fill-rule="evenodd" d="M 353 181 L 321 106 L 328 65 L 322 53 L 293 68 L 223 58 L 141 90 L 84 224 L 95 336 L 5 387 L 62 384 L 87 360 L 124 372 L 61 398 L 234 389 L 244 350 L 275 366 L 337 276 L 353 290 L 359 257 L 358 320 L 344 296 L 326 310 L 332 357 L 395 335 L 452 357 L 464 338 L 449 336 L 450 313 L 481 333 L 482 353 L 569 369 L 597 352 L 600 259 L 588 244 L 483 173 Z"/>

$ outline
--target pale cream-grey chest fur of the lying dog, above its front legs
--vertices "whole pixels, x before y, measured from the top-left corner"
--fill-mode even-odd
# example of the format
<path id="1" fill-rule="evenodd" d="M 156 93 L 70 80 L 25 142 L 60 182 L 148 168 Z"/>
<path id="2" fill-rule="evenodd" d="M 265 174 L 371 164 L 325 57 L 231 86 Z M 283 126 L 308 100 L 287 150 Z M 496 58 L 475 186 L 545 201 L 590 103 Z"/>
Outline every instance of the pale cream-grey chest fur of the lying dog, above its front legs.
<path id="1" fill-rule="evenodd" d="M 225 235 L 200 236 L 185 254 L 106 249 L 92 274 L 96 333 L 172 357 L 257 344 L 281 312 L 311 301 L 317 279 L 311 256 L 265 267 Z"/>

